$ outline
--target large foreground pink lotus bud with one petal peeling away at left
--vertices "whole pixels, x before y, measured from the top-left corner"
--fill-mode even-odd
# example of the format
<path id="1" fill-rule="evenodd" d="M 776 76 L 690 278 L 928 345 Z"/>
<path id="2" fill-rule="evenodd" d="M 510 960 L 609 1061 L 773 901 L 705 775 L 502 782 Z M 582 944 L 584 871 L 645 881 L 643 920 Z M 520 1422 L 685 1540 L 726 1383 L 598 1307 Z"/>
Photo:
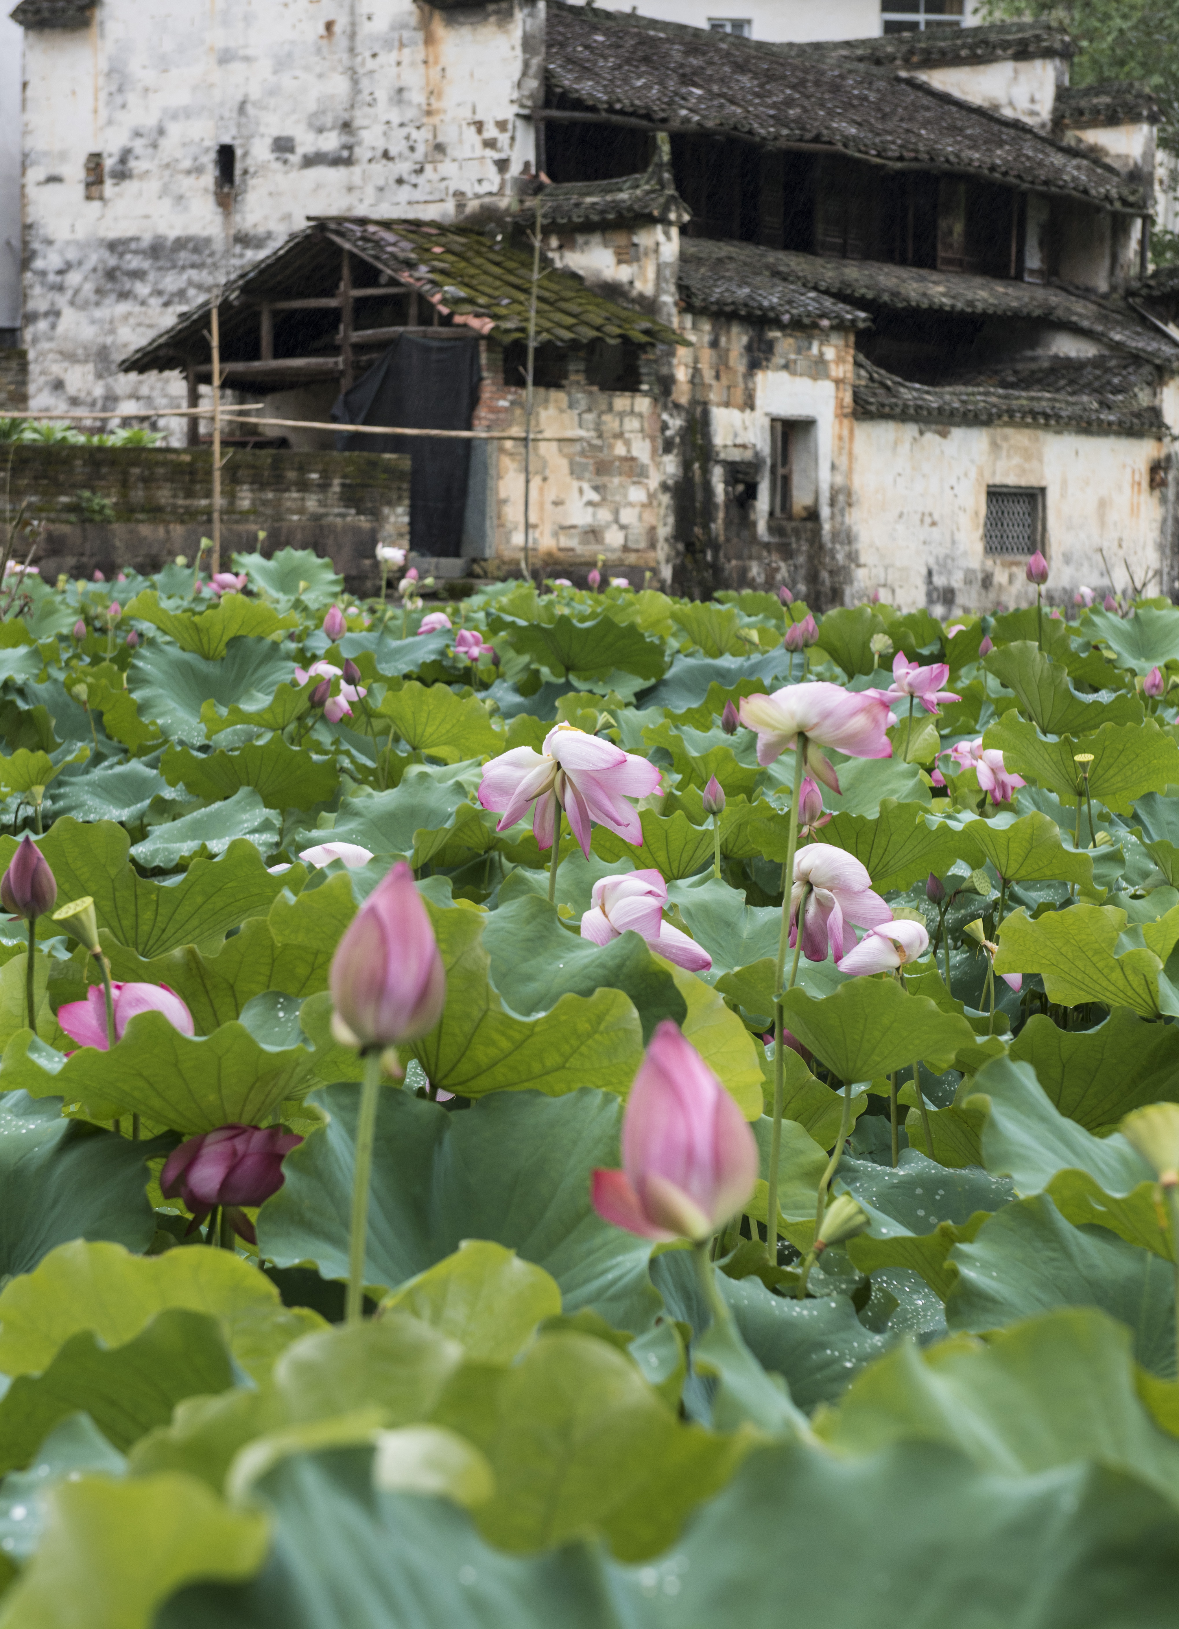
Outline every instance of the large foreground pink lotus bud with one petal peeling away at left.
<path id="1" fill-rule="evenodd" d="M 669 1020 L 658 1026 L 622 1121 L 622 1170 L 593 1173 L 604 1222 L 640 1238 L 703 1243 L 757 1183 L 741 1109 Z"/>

